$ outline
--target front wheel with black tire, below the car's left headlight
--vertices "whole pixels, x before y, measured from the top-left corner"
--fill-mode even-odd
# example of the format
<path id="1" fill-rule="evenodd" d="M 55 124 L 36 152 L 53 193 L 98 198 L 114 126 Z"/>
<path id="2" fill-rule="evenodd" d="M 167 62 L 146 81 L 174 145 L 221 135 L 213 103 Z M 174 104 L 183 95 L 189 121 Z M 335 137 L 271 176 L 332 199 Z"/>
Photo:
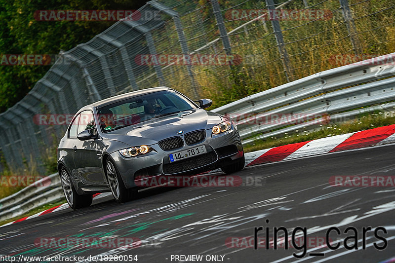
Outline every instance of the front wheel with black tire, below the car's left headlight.
<path id="1" fill-rule="evenodd" d="M 111 193 L 118 203 L 128 202 L 136 197 L 138 190 L 125 187 L 118 169 L 110 157 L 106 160 L 106 176 Z"/>

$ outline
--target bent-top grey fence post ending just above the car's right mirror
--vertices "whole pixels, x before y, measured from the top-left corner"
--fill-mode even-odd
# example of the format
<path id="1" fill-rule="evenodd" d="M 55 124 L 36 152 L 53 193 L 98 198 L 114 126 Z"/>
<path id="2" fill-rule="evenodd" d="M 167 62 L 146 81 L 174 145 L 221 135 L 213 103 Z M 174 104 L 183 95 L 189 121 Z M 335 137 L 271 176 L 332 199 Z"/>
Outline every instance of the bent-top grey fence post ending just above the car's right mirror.
<path id="1" fill-rule="evenodd" d="M 154 8 L 158 9 L 159 11 L 161 11 L 173 18 L 174 26 L 176 28 L 177 35 L 178 35 L 178 41 L 180 42 L 180 45 L 181 45 L 181 52 L 183 53 L 183 55 L 188 56 L 189 49 L 188 49 L 187 39 L 185 38 L 184 29 L 182 27 L 181 19 L 180 19 L 180 16 L 178 15 L 178 12 L 176 12 L 175 10 L 167 7 L 166 5 L 164 5 L 160 2 L 149 1 L 148 3 L 151 6 L 153 6 Z M 188 71 L 188 75 L 191 79 L 191 85 L 193 87 L 194 97 L 195 97 L 195 99 L 199 99 L 199 94 L 197 92 L 197 83 L 195 81 L 194 73 L 192 72 L 192 66 L 189 65 L 188 63 L 187 63 L 187 71 Z"/>

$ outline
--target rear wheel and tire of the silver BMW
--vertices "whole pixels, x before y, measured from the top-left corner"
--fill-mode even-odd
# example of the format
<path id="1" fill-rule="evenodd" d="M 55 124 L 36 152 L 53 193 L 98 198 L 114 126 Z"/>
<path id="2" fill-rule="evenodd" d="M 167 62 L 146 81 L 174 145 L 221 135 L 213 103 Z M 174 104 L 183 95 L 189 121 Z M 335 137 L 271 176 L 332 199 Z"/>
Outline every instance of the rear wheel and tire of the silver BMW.
<path id="1" fill-rule="evenodd" d="M 60 170 L 60 181 L 66 201 L 72 209 L 88 207 L 92 204 L 92 194 L 78 194 L 65 167 Z"/>

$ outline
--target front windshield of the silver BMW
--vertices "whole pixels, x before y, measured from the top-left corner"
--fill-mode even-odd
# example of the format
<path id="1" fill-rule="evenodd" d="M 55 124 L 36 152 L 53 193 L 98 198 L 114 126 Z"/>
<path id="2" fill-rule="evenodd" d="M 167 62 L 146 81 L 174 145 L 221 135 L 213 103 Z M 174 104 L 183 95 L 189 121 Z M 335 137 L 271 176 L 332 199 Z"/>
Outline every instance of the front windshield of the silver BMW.
<path id="1" fill-rule="evenodd" d="M 126 100 L 98 109 L 103 132 L 138 124 L 153 118 L 197 109 L 187 98 L 174 90 L 163 90 Z"/>

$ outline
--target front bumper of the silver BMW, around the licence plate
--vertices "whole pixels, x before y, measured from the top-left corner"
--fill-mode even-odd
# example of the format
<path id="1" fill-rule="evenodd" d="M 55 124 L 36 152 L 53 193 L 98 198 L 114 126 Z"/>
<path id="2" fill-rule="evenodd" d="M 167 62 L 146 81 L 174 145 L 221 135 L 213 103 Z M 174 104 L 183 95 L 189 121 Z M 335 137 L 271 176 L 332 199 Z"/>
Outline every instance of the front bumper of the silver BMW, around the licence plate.
<path id="1" fill-rule="evenodd" d="M 184 146 L 176 150 L 162 150 L 158 144 L 154 144 L 150 146 L 155 151 L 146 155 L 126 158 L 116 151 L 111 157 L 117 165 L 125 187 L 133 188 L 136 187 L 135 178 L 139 176 L 194 175 L 219 168 L 222 164 L 243 156 L 240 137 L 234 126 L 231 130 L 217 135 L 212 134 L 211 129 L 205 130 L 205 133 L 205 140 L 193 146 L 186 145 L 184 136 L 181 136 Z M 200 145 L 205 145 L 207 153 L 170 163 L 168 154 Z"/>

